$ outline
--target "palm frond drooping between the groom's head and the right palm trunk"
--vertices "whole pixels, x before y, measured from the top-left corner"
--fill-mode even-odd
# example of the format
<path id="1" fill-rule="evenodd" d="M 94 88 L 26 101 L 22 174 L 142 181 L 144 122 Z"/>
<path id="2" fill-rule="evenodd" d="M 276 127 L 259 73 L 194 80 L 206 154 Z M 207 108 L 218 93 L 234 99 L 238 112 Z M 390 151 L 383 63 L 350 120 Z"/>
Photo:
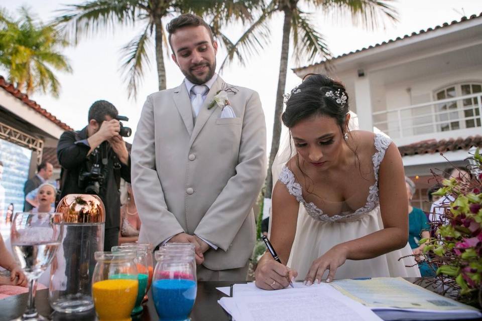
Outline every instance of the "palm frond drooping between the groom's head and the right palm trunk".
<path id="1" fill-rule="evenodd" d="M 262 51 L 270 42 L 271 29 L 268 24 L 269 18 L 277 11 L 275 1 L 272 1 L 260 14 L 260 17 L 243 33 L 241 37 L 232 43 L 222 35 L 221 40 L 227 50 L 226 57 L 220 65 L 220 70 L 227 66 L 237 57 L 244 64 L 244 59 Z"/>

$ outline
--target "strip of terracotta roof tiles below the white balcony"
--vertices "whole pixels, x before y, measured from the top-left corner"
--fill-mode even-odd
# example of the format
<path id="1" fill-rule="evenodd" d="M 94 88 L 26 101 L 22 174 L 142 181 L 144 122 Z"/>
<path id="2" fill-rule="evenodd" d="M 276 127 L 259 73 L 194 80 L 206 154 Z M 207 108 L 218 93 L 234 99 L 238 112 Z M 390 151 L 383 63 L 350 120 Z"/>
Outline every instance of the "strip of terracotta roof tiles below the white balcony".
<path id="1" fill-rule="evenodd" d="M 415 142 L 410 145 L 398 146 L 402 156 L 433 154 L 436 152 L 454 151 L 459 149 L 469 149 L 470 147 L 482 147 L 482 136 L 475 135 L 467 138 L 450 138 L 448 140 L 429 139 Z"/>

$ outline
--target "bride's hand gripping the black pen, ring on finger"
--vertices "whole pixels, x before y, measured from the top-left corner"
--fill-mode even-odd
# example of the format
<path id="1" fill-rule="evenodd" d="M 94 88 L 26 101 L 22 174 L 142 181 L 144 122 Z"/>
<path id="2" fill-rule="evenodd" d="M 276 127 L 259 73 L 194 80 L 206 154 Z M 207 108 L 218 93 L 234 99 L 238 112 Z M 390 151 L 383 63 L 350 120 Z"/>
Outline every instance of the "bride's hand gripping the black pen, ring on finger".
<path id="1" fill-rule="evenodd" d="M 275 261 L 269 253 L 265 253 L 255 271 L 255 284 L 265 290 L 279 290 L 289 286 L 289 280 L 294 282 L 297 276 L 296 270 Z"/>

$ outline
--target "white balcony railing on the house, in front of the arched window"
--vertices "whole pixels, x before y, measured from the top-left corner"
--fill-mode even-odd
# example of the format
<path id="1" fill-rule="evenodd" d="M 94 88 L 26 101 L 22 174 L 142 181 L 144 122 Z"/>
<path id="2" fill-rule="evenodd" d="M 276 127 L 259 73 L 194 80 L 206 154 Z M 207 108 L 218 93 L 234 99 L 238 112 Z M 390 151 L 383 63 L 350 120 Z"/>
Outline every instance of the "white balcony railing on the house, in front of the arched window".
<path id="1" fill-rule="evenodd" d="M 392 138 L 481 127 L 482 93 L 373 113 L 373 125 Z"/>

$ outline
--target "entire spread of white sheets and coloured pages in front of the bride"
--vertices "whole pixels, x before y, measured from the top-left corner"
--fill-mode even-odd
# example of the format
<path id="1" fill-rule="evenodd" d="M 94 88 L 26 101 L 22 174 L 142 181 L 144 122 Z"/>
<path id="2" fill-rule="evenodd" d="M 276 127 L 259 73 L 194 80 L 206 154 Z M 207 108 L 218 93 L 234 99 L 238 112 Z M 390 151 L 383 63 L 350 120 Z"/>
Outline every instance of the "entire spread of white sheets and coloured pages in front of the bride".
<path id="1" fill-rule="evenodd" d="M 229 288 L 219 288 L 229 295 Z M 403 278 L 335 280 L 278 291 L 234 284 L 219 304 L 236 321 L 254 320 L 443 320 L 480 318 L 477 309 Z"/>

